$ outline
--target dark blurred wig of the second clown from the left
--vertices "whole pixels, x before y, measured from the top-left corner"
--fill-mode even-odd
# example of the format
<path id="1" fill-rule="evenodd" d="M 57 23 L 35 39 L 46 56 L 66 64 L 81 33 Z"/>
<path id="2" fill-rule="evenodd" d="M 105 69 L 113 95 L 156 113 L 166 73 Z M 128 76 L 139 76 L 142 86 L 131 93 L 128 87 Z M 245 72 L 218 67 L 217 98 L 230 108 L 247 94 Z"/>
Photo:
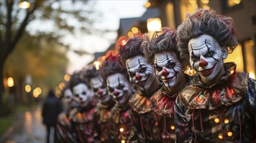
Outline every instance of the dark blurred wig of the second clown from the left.
<path id="1" fill-rule="evenodd" d="M 78 85 L 79 83 L 84 83 L 86 84 L 86 86 L 90 87 L 88 81 L 86 80 L 84 69 L 72 73 L 71 79 L 69 81 L 69 86 L 71 90 L 74 86 Z"/>

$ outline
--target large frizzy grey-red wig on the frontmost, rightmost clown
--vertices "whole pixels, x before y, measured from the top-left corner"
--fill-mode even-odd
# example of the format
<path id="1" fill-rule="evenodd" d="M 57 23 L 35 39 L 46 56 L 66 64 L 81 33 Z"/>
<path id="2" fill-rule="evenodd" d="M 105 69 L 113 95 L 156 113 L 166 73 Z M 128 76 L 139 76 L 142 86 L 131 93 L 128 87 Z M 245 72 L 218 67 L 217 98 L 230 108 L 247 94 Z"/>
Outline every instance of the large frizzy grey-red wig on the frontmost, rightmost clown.
<path id="1" fill-rule="evenodd" d="M 221 47 L 229 47 L 232 53 L 238 45 L 234 21 L 227 16 L 221 16 L 214 10 L 200 8 L 193 14 L 186 14 L 186 19 L 178 26 L 178 50 L 180 57 L 189 60 L 188 43 L 192 38 L 202 34 L 213 36 Z"/>

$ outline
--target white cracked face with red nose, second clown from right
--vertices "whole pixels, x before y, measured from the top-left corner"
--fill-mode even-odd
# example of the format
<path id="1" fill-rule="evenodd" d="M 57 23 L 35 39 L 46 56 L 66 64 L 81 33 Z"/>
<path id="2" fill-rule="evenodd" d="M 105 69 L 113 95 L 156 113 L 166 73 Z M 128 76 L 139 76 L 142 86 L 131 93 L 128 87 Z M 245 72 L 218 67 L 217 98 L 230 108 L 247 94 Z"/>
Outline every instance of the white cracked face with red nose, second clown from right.
<path id="1" fill-rule="evenodd" d="M 176 53 L 172 51 L 155 53 L 155 75 L 163 81 L 167 88 L 179 86 L 184 77 L 183 66 Z"/>

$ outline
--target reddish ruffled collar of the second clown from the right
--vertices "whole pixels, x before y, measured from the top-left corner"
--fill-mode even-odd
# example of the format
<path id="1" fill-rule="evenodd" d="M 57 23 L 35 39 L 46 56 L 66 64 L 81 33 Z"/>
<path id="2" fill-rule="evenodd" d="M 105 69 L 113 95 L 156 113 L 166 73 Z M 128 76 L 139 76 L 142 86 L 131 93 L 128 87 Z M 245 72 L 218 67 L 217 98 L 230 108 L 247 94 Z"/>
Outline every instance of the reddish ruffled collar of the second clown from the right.
<path id="1" fill-rule="evenodd" d="M 155 113 L 168 118 L 174 117 L 174 104 L 178 94 L 170 94 L 165 86 L 155 92 L 151 98 L 151 103 Z"/>

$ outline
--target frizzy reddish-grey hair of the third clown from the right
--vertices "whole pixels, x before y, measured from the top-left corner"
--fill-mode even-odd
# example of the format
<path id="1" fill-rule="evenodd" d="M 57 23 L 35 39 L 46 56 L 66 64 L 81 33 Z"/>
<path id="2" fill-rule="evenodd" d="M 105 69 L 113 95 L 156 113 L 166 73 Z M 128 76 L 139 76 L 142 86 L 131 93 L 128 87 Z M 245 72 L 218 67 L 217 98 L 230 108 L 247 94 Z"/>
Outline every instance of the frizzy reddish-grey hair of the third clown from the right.
<path id="1" fill-rule="evenodd" d="M 120 44 L 123 40 L 126 40 L 125 44 Z M 137 55 L 142 55 L 144 57 L 144 53 L 140 47 L 142 40 L 142 34 L 140 31 L 134 38 L 125 39 L 124 37 L 120 37 L 118 39 L 116 49 L 118 51 L 121 64 L 125 65 L 125 60 Z"/>

